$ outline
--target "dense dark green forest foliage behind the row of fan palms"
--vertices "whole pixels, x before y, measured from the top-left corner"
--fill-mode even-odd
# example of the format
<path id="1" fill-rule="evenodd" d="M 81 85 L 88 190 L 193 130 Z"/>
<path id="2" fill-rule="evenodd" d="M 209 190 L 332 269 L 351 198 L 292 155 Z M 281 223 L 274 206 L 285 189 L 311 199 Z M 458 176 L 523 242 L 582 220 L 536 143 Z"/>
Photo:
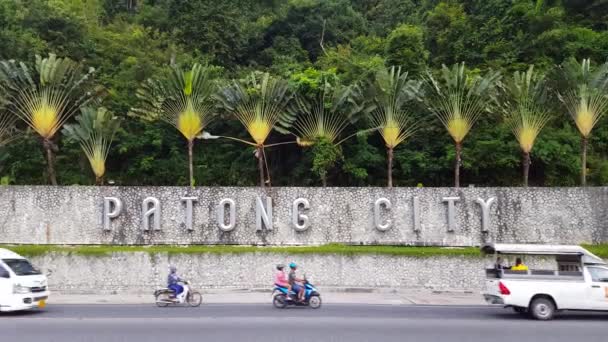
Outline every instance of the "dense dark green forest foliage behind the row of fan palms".
<path id="1" fill-rule="evenodd" d="M 103 106 L 124 118 L 105 179 L 187 185 L 188 142 L 167 123 L 127 117 L 137 106 L 140 85 L 168 74 L 171 63 L 212 65 L 225 79 L 269 72 L 300 91 L 318 89 L 331 78 L 342 84 L 368 80 L 391 65 L 413 78 L 462 61 L 478 75 L 492 69 L 508 76 L 534 64 L 554 76 L 551 70 L 571 57 L 606 60 L 607 19 L 608 2 L 600 0 L 0 0 L 0 60 L 33 65 L 36 54 L 56 53 L 94 67 L 106 89 Z M 551 86 L 554 81 L 549 77 Z M 529 182 L 576 185 L 580 134 L 550 93 L 553 115 L 531 152 Z M 394 151 L 394 185 L 451 185 L 450 136 L 425 106 L 411 110 L 420 128 Z M 239 121 L 218 114 L 206 130 L 250 140 Z M 589 137 L 592 185 L 608 183 L 605 120 Z M 358 120 L 342 135 L 369 127 L 369 120 Z M 46 183 L 39 139 L 30 130 L 6 147 L 3 183 Z M 273 131 L 267 143 L 290 140 L 293 136 Z M 79 144 L 60 134 L 54 143 L 58 182 L 92 184 L 95 177 Z M 194 143 L 197 185 L 258 183 L 253 146 L 222 139 Z M 519 144 L 499 110 L 480 116 L 462 149 L 463 186 L 521 184 Z M 287 144 L 266 148 L 265 155 L 273 186 L 320 185 L 320 177 L 329 185 L 386 184 L 386 148 L 377 133 L 356 135 L 339 151 Z"/>

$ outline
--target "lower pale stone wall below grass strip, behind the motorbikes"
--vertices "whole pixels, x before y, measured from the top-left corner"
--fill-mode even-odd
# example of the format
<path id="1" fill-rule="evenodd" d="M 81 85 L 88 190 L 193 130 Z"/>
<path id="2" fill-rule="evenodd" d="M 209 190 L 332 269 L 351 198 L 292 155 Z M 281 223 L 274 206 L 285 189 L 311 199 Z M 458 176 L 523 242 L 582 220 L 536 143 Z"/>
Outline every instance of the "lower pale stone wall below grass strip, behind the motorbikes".
<path id="1" fill-rule="evenodd" d="M 52 272 L 52 291 L 70 294 L 149 294 L 165 286 L 168 266 L 196 288 L 268 288 L 275 265 L 295 261 L 299 271 L 323 288 L 414 288 L 478 291 L 491 257 L 398 257 L 387 255 L 282 255 L 115 253 L 80 256 L 50 253 L 30 259 Z M 512 264 L 514 260 L 509 260 Z M 552 269 L 555 261 L 526 258 L 530 268 Z"/>

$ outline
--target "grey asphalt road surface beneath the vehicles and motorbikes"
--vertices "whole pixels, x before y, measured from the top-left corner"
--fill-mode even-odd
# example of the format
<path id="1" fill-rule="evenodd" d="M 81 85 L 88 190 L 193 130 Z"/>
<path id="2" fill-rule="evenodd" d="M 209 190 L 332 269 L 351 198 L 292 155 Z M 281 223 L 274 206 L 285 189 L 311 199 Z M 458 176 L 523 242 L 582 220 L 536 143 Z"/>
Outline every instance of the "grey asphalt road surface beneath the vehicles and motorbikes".
<path id="1" fill-rule="evenodd" d="M 0 341 L 608 341 L 608 314 L 538 322 L 487 306 L 50 305 L 0 314 Z"/>

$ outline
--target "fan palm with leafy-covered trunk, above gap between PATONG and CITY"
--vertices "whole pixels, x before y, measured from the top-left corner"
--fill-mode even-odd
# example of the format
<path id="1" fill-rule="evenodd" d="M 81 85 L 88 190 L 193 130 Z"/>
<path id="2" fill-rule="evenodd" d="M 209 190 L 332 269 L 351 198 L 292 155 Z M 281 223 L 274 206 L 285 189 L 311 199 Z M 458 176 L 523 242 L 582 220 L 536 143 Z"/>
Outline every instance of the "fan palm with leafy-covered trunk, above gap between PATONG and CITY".
<path id="1" fill-rule="evenodd" d="M 360 98 L 361 91 L 356 85 L 332 85 L 323 80 L 316 94 L 297 96 L 292 102 L 291 110 L 296 115 L 293 123 L 296 142 L 302 147 L 314 146 L 324 150 L 323 156 L 315 156 L 318 160 L 313 161 L 313 170 L 319 173 L 323 186 L 327 186 L 327 172 L 340 154 L 339 145 L 359 133 L 339 140 L 349 122 L 354 122 L 363 111 L 363 103 L 358 101 Z"/>

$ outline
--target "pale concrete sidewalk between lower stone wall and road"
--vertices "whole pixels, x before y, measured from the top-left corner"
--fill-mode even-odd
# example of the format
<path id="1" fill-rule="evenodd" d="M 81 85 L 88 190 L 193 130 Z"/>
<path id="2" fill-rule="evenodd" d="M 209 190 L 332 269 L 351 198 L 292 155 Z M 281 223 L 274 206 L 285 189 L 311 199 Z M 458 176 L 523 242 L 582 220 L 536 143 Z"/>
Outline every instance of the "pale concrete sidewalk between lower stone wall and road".
<path id="1" fill-rule="evenodd" d="M 482 296 L 468 291 L 419 289 L 319 289 L 325 304 L 369 305 L 483 305 Z M 208 289 L 201 291 L 207 304 L 270 304 L 269 290 Z M 51 293 L 49 304 L 153 304 L 154 297 L 142 294 Z"/>

